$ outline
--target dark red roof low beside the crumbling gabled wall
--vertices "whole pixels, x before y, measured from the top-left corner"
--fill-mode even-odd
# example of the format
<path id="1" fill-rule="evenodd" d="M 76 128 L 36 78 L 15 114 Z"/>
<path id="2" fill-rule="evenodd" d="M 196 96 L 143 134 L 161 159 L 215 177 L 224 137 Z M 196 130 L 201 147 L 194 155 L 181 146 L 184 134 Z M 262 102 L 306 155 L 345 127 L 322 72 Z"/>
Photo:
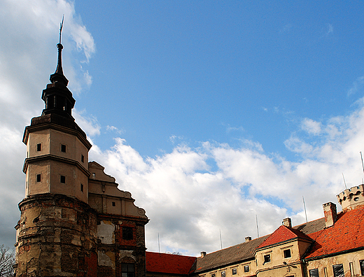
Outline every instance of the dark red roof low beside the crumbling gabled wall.
<path id="1" fill-rule="evenodd" d="M 146 271 L 165 274 L 188 274 L 196 257 L 146 252 Z"/>

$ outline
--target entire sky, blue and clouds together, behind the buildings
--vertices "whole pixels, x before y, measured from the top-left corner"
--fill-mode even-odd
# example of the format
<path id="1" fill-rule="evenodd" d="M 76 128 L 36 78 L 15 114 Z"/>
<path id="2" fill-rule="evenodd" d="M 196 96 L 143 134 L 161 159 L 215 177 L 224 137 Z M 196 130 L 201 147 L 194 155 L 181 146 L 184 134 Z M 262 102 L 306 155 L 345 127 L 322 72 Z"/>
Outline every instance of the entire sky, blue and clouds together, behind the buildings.
<path id="1" fill-rule="evenodd" d="M 197 255 L 323 216 L 362 183 L 360 1 L 0 0 L 0 244 L 22 132 L 63 68 L 90 160 L 146 209 L 148 250 Z M 339 208 L 340 209 L 340 208 Z"/>

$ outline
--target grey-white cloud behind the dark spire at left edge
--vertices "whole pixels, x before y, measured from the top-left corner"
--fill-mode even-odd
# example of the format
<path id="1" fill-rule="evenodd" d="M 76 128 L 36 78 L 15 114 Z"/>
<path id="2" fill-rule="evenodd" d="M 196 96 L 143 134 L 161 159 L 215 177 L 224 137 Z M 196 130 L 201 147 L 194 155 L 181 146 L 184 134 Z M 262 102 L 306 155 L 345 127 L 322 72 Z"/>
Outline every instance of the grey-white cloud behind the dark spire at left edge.
<path id="1" fill-rule="evenodd" d="M 0 16 L 0 244 L 13 246 L 13 227 L 19 220 L 17 204 L 25 194 L 22 173 L 27 150 L 22 143 L 29 119 L 41 115 L 41 91 L 57 65 L 56 44 L 64 14 L 63 68 L 76 94 L 91 84 L 87 69 L 81 70 L 95 51 L 94 41 L 66 0 L 1 1 Z M 75 31 L 78 30 L 78 31 Z M 83 124 L 81 116 L 78 123 Z M 90 125 L 92 126 L 92 125 Z M 97 134 L 97 126 L 87 128 Z M 11 207 L 11 208 L 10 208 Z"/>

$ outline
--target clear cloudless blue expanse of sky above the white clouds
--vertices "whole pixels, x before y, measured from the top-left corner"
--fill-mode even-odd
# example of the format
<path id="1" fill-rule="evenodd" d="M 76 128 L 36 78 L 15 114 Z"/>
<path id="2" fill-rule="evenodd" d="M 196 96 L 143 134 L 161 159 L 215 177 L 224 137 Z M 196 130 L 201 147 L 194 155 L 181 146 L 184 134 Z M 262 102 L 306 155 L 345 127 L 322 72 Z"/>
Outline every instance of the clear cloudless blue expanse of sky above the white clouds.
<path id="1" fill-rule="evenodd" d="M 141 155 L 172 149 L 174 135 L 246 138 L 296 159 L 283 141 L 297 122 L 342 115 L 358 97 L 348 90 L 363 74 L 363 7 L 281 2 L 76 1 L 96 44 L 79 105 L 118 111 L 97 118 Z"/>

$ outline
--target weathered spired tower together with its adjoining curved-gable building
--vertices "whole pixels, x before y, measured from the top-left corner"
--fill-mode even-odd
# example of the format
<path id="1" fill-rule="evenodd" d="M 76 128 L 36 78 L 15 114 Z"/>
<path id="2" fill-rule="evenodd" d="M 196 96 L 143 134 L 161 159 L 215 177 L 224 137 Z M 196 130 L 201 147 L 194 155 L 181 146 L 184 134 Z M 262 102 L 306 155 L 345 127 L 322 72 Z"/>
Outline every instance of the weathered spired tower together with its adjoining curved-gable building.
<path id="1" fill-rule="evenodd" d="M 103 166 L 88 162 L 92 145 L 72 117 L 76 101 L 62 69 L 61 31 L 62 24 L 57 69 L 42 93 L 45 108 L 23 136 L 15 274 L 144 277 L 148 218 Z"/>

